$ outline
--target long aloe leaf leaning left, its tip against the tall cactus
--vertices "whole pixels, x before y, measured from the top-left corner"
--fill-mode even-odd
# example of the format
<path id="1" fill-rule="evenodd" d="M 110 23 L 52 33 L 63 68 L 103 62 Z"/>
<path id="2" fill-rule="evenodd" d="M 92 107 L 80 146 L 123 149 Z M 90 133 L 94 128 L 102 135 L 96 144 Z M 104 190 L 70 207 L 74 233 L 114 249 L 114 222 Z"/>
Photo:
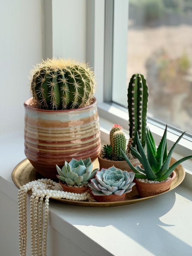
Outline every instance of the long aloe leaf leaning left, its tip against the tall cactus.
<path id="1" fill-rule="evenodd" d="M 137 144 L 139 147 L 139 153 L 141 154 L 141 157 L 142 157 L 142 165 L 145 170 L 146 176 L 149 180 L 154 180 L 156 178 L 156 175 L 154 174 L 154 172 L 151 169 L 151 166 L 149 164 L 149 161 L 147 160 L 147 157 L 145 155 L 145 152 L 144 152 L 141 142 L 139 140 L 138 132 L 137 132 Z"/>

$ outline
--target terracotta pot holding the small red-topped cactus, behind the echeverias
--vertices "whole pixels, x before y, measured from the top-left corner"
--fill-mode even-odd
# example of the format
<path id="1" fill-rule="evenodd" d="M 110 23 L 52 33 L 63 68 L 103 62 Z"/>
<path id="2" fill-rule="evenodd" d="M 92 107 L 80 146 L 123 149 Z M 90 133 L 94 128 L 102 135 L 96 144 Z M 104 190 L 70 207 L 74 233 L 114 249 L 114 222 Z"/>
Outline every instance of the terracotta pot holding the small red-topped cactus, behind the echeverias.
<path id="1" fill-rule="evenodd" d="M 107 160 L 107 159 L 102 158 L 101 155 L 102 155 L 102 152 L 98 156 L 100 169 L 101 168 L 107 169 L 107 168 L 112 167 L 114 165 L 114 167 L 116 167 L 118 169 L 121 169 L 122 171 L 128 171 L 128 172 L 132 171 L 126 161 L 111 161 L 111 160 Z M 130 162 L 132 163 L 133 166 L 136 166 L 136 165 L 140 164 L 138 159 L 130 160 Z"/>

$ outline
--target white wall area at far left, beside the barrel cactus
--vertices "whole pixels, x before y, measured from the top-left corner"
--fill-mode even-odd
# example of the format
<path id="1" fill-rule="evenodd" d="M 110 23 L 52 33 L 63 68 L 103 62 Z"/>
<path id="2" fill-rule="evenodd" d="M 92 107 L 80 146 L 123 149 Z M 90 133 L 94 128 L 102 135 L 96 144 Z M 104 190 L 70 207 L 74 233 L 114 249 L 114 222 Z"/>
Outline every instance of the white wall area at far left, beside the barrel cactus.
<path id="1" fill-rule="evenodd" d="M 23 129 L 29 71 L 42 59 L 40 0 L 0 1 L 0 133 Z"/>

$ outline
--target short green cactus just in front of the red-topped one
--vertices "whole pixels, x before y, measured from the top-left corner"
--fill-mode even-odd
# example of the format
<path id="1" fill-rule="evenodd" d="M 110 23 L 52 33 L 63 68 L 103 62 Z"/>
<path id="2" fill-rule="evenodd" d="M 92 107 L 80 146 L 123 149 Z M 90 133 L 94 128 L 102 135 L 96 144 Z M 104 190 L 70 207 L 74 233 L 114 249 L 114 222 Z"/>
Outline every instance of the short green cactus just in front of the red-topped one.
<path id="1" fill-rule="evenodd" d="M 114 160 L 119 160 L 119 156 L 121 156 L 121 149 L 125 152 L 126 148 L 126 138 L 123 131 L 117 131 L 113 134 L 113 151 L 112 154 L 114 156 Z"/>

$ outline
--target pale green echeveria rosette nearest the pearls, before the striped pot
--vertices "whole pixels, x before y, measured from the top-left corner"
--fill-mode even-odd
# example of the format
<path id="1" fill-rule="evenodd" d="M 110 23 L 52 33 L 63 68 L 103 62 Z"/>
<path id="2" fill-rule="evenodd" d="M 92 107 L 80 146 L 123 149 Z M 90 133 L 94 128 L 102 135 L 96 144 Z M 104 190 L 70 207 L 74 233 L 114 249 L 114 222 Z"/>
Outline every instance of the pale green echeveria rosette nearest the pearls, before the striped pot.
<path id="1" fill-rule="evenodd" d="M 96 171 L 99 170 L 94 169 L 92 172 L 93 163 L 91 162 L 90 157 L 84 160 L 76 160 L 72 158 L 69 163 L 65 161 L 62 169 L 59 168 L 58 165 L 56 165 L 56 168 L 59 174 L 57 175 L 57 178 L 71 186 L 87 185 L 88 181 L 90 181 L 91 178 L 95 177 Z"/>

